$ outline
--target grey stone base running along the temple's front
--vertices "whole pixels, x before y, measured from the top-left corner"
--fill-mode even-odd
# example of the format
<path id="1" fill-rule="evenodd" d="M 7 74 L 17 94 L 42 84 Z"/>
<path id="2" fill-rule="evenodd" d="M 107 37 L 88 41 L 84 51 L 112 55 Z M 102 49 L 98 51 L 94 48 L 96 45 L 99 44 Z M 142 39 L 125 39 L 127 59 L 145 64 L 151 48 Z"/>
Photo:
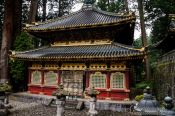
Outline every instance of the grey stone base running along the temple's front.
<path id="1" fill-rule="evenodd" d="M 14 101 L 21 101 L 25 103 L 39 103 L 45 106 L 53 106 L 56 107 L 54 96 L 47 95 L 36 95 L 30 93 L 13 93 L 10 95 L 10 99 Z M 72 101 L 71 101 L 72 100 Z M 85 108 L 89 108 L 89 99 L 81 99 L 81 98 L 66 98 L 66 106 L 67 109 L 81 109 L 81 106 L 85 106 Z M 83 103 L 80 103 L 83 102 Z M 134 101 L 112 101 L 112 100 L 97 100 L 96 109 L 97 110 L 110 110 L 110 111 L 118 111 L 125 112 L 131 111 Z M 79 105 L 78 105 L 79 104 Z M 82 105 L 83 104 L 83 105 Z"/>

